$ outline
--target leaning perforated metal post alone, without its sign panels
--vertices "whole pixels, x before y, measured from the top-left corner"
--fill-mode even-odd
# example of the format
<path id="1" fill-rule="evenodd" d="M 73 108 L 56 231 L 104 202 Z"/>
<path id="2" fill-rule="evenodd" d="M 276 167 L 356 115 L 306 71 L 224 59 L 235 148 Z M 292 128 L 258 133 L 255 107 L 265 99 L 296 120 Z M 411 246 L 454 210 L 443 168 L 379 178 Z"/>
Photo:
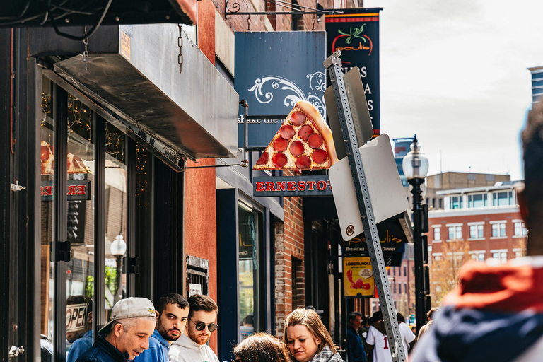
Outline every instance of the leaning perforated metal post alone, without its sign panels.
<path id="1" fill-rule="evenodd" d="M 388 341 L 390 344 L 390 353 L 392 361 L 406 361 L 406 354 L 400 340 L 396 310 L 392 303 L 392 293 L 388 284 L 387 271 L 385 269 L 385 259 L 383 258 L 383 250 L 381 250 L 380 240 L 373 215 L 371 200 L 368 194 L 368 185 L 366 183 L 366 175 L 362 165 L 360 151 L 358 150 L 358 139 L 354 127 L 353 118 L 351 115 L 351 107 L 347 95 L 346 86 L 341 72 L 341 52 L 337 51 L 327 58 L 324 62 L 325 68 L 328 70 L 332 88 L 334 90 L 335 103 L 337 105 L 337 114 L 339 123 L 341 124 L 341 132 L 346 148 L 346 155 L 349 159 L 351 175 L 353 177 L 354 187 L 356 190 L 356 199 L 358 201 L 358 209 L 363 218 L 363 229 L 366 235 L 366 243 L 368 244 L 368 252 L 370 255 L 373 273 L 375 275 L 375 285 L 377 287 L 385 329 L 387 332 Z M 337 143 L 337 140 L 334 141 Z"/>

